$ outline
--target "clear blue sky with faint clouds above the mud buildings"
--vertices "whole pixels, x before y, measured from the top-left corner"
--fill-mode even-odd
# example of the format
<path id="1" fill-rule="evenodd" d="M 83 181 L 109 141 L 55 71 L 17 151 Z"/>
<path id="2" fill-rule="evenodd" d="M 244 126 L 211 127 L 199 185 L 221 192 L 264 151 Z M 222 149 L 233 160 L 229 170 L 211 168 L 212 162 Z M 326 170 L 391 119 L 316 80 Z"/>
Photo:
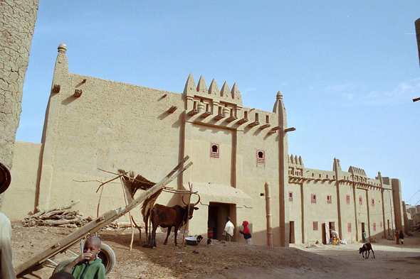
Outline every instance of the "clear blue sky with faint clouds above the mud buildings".
<path id="1" fill-rule="evenodd" d="M 272 111 L 307 168 L 396 177 L 420 204 L 416 1 L 41 0 L 16 139 L 40 142 L 57 47 L 70 72 L 182 93 L 190 73 Z M 417 192 L 419 191 L 419 192 Z"/>

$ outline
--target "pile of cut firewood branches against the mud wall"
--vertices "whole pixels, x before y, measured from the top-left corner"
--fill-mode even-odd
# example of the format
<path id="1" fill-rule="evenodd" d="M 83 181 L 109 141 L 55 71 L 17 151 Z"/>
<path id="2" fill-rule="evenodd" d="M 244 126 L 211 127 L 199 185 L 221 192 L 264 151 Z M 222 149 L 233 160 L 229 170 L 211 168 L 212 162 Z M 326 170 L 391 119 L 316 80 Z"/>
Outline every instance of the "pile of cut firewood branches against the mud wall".
<path id="1" fill-rule="evenodd" d="M 73 205 L 78 204 L 80 200 L 72 201 L 64 207 L 55 207 L 50 209 L 38 209 L 36 214 L 25 218 L 26 226 L 64 226 L 77 228 L 92 221 L 91 217 L 83 218 L 83 213 L 72 210 Z"/>

